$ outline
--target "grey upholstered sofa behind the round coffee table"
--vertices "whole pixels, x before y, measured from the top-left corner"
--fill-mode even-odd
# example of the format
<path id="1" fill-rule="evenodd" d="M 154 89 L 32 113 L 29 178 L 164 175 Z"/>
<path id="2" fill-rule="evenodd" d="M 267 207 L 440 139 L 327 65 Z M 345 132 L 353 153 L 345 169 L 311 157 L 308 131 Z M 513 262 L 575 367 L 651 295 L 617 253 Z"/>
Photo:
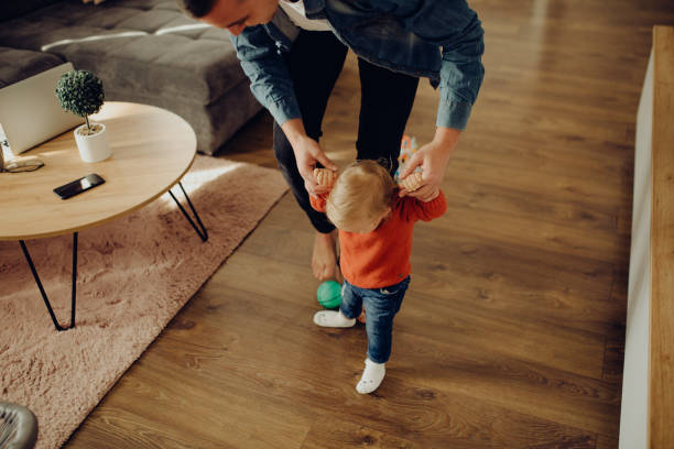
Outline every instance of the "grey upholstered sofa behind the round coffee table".
<path id="1" fill-rule="evenodd" d="M 106 100 L 183 117 L 214 154 L 261 106 L 228 33 L 186 18 L 175 0 L 0 1 L 0 87 L 72 62 Z"/>

